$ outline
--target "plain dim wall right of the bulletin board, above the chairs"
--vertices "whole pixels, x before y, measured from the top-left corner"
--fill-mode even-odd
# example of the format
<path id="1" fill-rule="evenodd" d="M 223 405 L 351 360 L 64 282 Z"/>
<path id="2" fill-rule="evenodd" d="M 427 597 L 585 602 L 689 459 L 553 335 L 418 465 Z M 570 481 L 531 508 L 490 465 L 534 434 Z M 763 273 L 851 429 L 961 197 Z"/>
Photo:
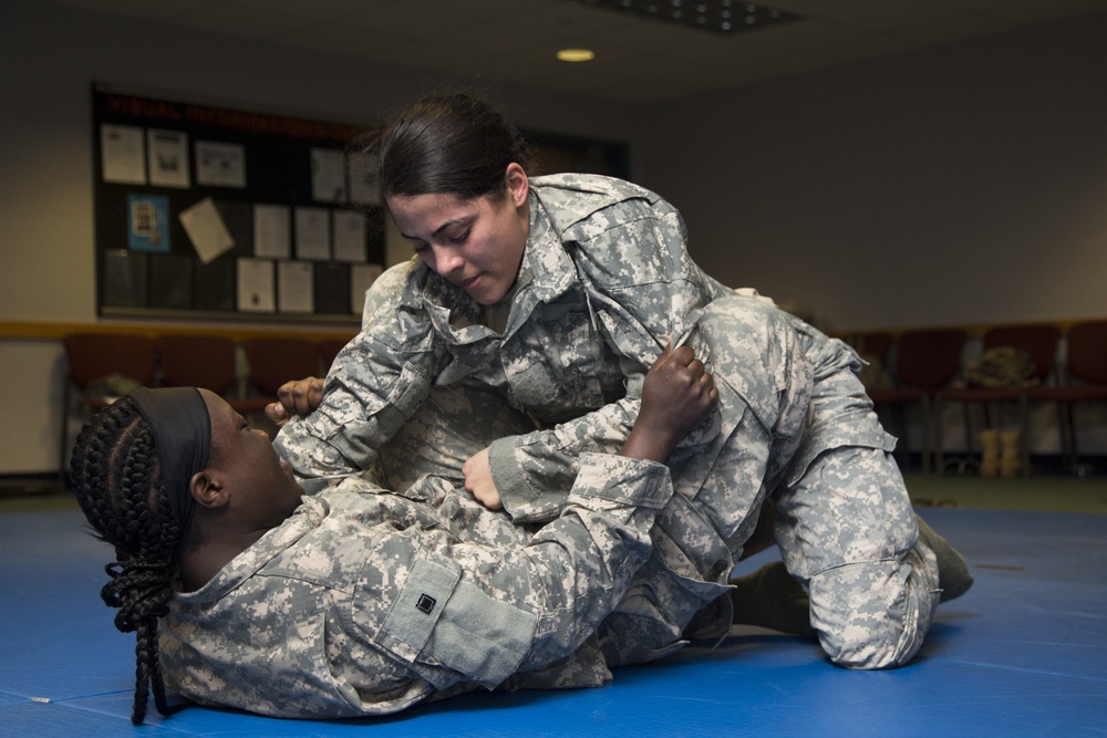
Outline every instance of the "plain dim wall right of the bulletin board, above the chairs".
<path id="1" fill-rule="evenodd" d="M 840 330 L 1107 315 L 1107 14 L 662 107 L 704 268 Z"/>

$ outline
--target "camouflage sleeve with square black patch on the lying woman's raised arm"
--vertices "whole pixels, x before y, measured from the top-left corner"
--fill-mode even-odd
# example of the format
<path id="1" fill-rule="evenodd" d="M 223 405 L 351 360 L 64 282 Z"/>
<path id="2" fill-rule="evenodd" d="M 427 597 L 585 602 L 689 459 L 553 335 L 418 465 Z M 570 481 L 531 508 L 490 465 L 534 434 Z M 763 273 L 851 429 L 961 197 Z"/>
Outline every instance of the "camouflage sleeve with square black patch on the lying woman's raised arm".
<path id="1" fill-rule="evenodd" d="M 458 542 L 437 531 L 408 552 L 410 537 L 396 537 L 366 567 L 354 621 L 436 689 L 495 687 L 565 658 L 596 631 L 649 558 L 671 495 L 663 465 L 587 456 L 562 514 L 529 540 Z"/>

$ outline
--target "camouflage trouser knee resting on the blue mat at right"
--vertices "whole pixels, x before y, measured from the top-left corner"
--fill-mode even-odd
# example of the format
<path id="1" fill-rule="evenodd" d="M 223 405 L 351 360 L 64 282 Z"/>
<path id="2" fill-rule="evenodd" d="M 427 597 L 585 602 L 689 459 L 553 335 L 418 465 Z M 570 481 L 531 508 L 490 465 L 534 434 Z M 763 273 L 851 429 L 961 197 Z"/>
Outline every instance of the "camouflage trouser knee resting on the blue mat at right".
<path id="1" fill-rule="evenodd" d="M 848 563 L 810 581 L 811 625 L 845 668 L 893 668 L 919 652 L 938 609 L 938 562 L 925 547 L 903 560 Z"/>

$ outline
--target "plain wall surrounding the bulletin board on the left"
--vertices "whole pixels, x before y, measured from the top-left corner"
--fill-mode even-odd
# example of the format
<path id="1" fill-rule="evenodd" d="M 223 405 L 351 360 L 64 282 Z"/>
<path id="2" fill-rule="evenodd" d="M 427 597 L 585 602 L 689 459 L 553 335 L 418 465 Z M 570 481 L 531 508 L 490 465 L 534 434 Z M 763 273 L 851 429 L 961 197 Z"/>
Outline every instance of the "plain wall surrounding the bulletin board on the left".
<path id="1" fill-rule="evenodd" d="M 91 83 L 339 123 L 373 123 L 448 81 L 153 23 L 0 2 L 0 322 L 95 322 Z M 462 81 L 464 82 L 464 81 Z M 487 89 L 487 87 L 485 87 Z M 489 89 L 520 124 L 632 139 L 625 107 Z M 581 111 L 587 111 L 581 114 Z M 393 258 L 410 249 L 390 243 Z M 63 356 L 0 342 L 0 475 L 56 469 Z M 73 429 L 75 432 L 75 428 Z"/>

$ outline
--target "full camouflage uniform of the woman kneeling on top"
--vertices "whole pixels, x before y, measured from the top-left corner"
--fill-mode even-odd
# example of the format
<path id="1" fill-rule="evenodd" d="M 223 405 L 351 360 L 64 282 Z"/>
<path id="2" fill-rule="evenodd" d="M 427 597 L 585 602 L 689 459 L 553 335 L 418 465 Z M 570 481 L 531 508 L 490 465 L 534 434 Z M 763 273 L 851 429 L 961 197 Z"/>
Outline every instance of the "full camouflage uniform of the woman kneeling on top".
<path id="1" fill-rule="evenodd" d="M 581 454 L 619 447 L 646 368 L 670 336 L 686 336 L 723 387 L 721 413 L 671 459 L 680 493 L 658 517 L 640 585 L 601 628 L 609 662 L 679 647 L 713 601 L 724 604 L 721 622 L 701 633 L 728 624 L 720 595 L 776 493 L 777 541 L 810 585 L 831 658 L 901 664 L 929 627 L 937 569 L 917 545 L 860 363 L 765 301 L 725 300 L 701 319 L 733 294 L 691 261 L 679 212 L 656 195 L 602 177 L 536 178 L 503 333 L 421 262 L 393 268 L 370 290 L 362 332 L 333 364 L 319 410 L 276 443 L 301 477 L 341 476 L 376 464 L 432 387 L 490 388 L 540 428 L 493 441 L 489 458 L 514 519 L 541 523 L 562 508 Z M 470 453 L 454 448 L 455 460 Z"/>

